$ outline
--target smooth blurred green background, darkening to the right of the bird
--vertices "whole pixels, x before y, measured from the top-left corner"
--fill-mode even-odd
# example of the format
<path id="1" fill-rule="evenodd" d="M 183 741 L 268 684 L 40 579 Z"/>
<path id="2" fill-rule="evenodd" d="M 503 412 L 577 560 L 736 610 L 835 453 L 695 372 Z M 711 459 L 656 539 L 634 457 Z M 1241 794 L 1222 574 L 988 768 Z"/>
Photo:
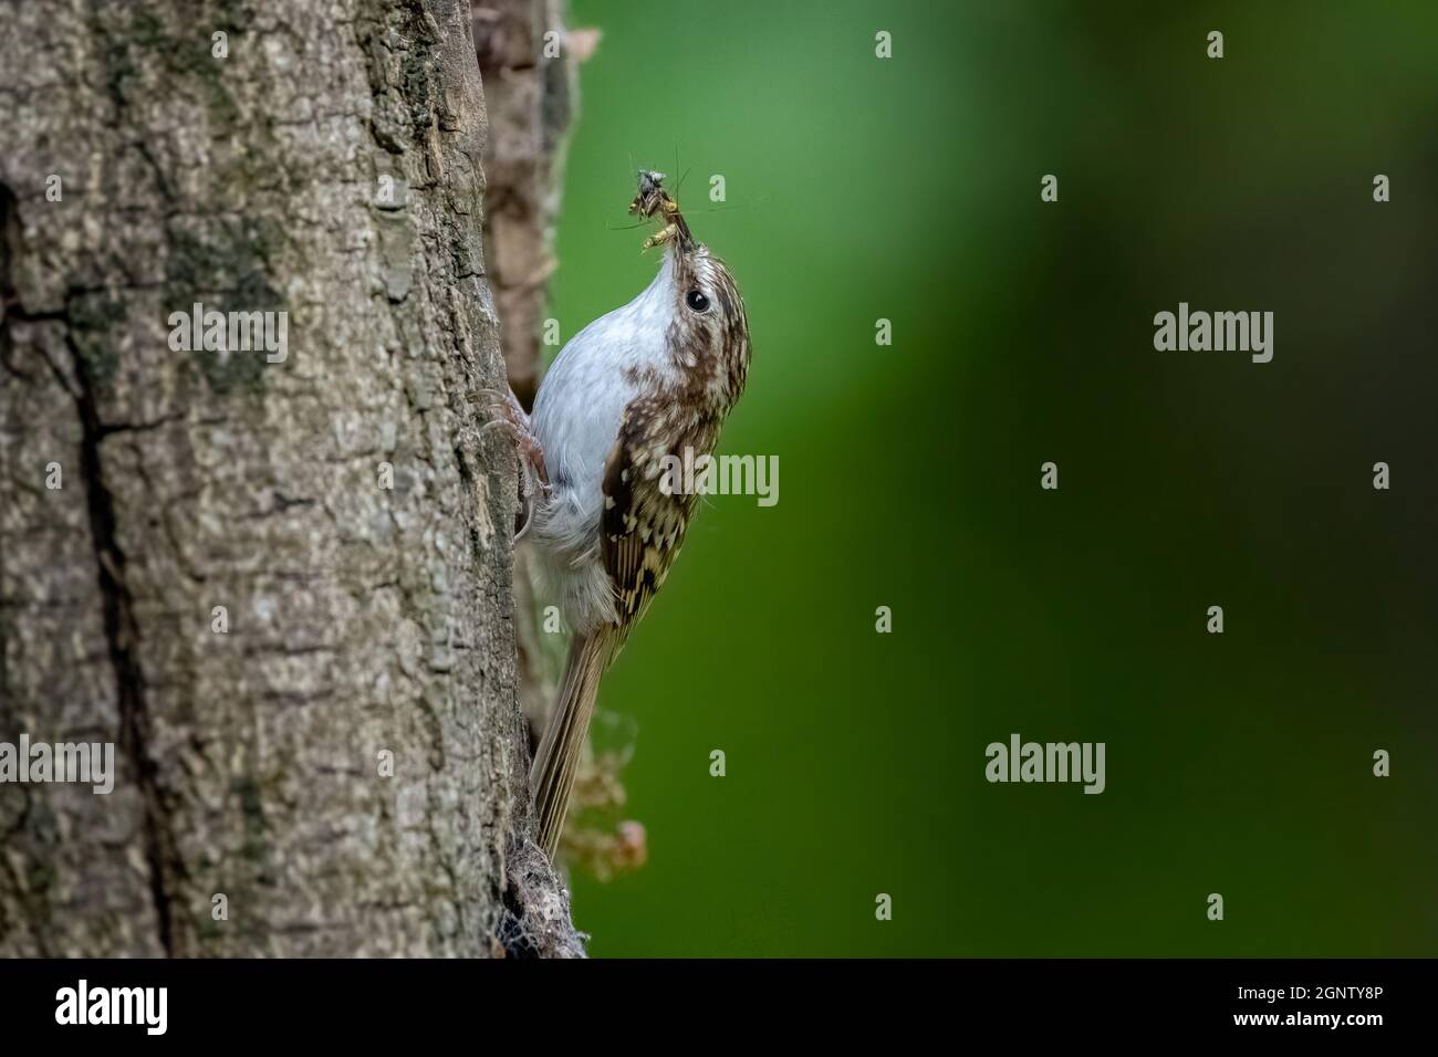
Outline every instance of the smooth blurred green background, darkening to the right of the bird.
<path id="1" fill-rule="evenodd" d="M 707 500 L 605 682 L 650 861 L 574 877 L 591 952 L 1438 953 L 1438 9 L 571 24 L 552 314 L 649 282 L 633 168 L 687 171 L 754 332 L 720 452 L 781 465 L 775 508 Z M 1156 352 L 1179 301 L 1273 311 L 1274 361 Z M 1106 742 L 1107 791 L 988 784 L 1011 732 Z"/>

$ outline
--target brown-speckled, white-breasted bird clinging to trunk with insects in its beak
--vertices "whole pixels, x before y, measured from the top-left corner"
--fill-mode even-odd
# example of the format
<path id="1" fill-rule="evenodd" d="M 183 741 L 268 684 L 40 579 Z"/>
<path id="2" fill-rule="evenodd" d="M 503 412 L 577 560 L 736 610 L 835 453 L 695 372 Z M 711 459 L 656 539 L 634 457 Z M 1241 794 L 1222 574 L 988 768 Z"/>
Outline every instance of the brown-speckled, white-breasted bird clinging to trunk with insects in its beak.
<path id="1" fill-rule="evenodd" d="M 525 532 L 572 631 L 529 772 L 535 838 L 554 859 L 600 680 L 679 557 L 697 495 L 664 472 L 707 456 L 743 393 L 749 322 L 729 267 L 697 242 L 664 174 L 638 173 L 630 213 L 657 220 L 649 286 L 559 351 L 526 416 L 506 417 L 538 479 Z"/>

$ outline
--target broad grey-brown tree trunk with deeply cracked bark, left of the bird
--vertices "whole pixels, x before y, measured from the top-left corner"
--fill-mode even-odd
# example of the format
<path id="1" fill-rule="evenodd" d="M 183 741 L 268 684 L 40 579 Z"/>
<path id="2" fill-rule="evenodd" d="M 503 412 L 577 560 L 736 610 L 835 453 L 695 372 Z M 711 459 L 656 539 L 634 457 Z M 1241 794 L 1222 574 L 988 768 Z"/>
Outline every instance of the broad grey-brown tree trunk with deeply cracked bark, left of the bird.
<path id="1" fill-rule="evenodd" d="M 108 797 L 0 785 L 0 955 L 580 952 L 522 837 L 469 26 L 0 1 L 0 741 L 118 746 Z M 173 351 L 194 302 L 288 358 Z"/>

